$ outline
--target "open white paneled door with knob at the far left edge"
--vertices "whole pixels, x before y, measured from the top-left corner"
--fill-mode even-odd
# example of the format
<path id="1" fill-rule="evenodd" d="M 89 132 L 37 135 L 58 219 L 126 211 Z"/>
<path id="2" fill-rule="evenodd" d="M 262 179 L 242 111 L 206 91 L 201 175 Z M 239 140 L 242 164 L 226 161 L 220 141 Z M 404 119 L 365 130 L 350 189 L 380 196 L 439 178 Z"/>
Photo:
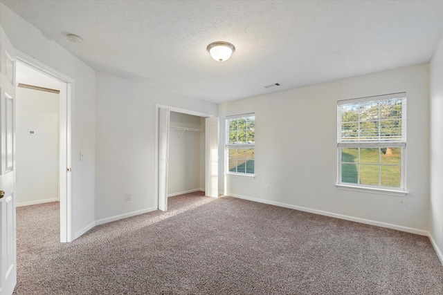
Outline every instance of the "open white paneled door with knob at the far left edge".
<path id="1" fill-rule="evenodd" d="M 17 282 L 15 244 L 15 53 L 0 26 L 0 295 Z"/>

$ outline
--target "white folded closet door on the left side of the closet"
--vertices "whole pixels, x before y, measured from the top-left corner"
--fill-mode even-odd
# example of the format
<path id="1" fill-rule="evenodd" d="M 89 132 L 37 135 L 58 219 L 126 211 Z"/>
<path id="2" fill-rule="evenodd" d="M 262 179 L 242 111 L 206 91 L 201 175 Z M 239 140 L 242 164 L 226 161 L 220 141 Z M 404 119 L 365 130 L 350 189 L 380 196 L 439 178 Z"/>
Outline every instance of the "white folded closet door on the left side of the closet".
<path id="1" fill-rule="evenodd" d="M 169 108 L 159 108 L 159 209 L 168 210 Z"/>

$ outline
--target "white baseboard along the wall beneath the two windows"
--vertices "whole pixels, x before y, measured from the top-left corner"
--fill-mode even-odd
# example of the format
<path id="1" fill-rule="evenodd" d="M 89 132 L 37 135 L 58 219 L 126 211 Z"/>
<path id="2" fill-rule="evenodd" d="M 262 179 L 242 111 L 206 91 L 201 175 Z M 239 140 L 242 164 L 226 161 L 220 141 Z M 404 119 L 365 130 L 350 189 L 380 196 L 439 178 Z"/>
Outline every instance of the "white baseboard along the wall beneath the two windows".
<path id="1" fill-rule="evenodd" d="M 231 196 L 231 197 L 239 198 L 239 199 L 244 199 L 244 200 L 250 200 L 253 202 L 270 204 L 270 205 L 274 205 L 274 206 L 278 206 L 278 207 L 295 209 L 298 211 L 305 211 L 305 212 L 309 212 L 309 213 L 319 214 L 319 215 L 323 215 L 323 216 L 329 216 L 329 217 L 343 219 L 343 220 L 360 222 L 360 223 L 364 223 L 365 225 L 375 225 L 377 227 L 386 227 L 388 229 L 395 229 L 397 231 L 406 231 L 407 233 L 418 234 L 420 236 L 428 236 L 428 231 L 424 231 L 422 229 L 414 229 L 412 227 L 403 227 L 401 225 L 392 225 L 390 223 L 379 222 L 379 221 L 375 221 L 375 220 L 369 220 L 369 219 L 358 218 L 358 217 L 353 217 L 353 216 L 347 216 L 347 215 L 342 215 L 342 214 L 337 214 L 337 213 L 332 213 L 332 212 L 322 211 L 322 210 L 317 210 L 317 209 L 310 209 L 310 208 L 306 208 L 306 207 L 294 206 L 291 204 L 284 204 L 284 203 L 274 202 L 274 201 L 270 201 L 270 200 L 261 200 L 261 199 L 257 199 L 257 198 L 239 196 L 239 195 L 235 195 L 233 193 L 228 193 L 227 196 Z"/>

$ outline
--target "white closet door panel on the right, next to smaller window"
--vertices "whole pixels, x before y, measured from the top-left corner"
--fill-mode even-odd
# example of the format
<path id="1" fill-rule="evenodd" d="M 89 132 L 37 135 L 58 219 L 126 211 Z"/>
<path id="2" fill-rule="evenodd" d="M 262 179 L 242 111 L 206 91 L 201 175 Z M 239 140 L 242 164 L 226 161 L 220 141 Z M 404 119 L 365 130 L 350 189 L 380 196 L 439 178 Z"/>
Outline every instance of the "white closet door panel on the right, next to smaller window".
<path id="1" fill-rule="evenodd" d="M 205 122 L 205 195 L 219 196 L 219 118 L 206 118 Z"/>

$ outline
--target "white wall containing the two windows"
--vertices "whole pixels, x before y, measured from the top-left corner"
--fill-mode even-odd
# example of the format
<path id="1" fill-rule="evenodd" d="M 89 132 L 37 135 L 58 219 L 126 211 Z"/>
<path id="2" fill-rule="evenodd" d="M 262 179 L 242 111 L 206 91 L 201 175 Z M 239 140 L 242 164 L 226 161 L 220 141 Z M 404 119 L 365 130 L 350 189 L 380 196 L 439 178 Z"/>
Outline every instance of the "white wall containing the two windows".
<path id="1" fill-rule="evenodd" d="M 337 189 L 337 100 L 404 91 L 408 104 L 408 195 Z M 426 234 L 428 64 L 219 105 L 219 117 L 242 113 L 255 113 L 256 176 L 226 176 L 227 195 Z M 220 126 L 224 126 L 224 120 Z M 223 130 L 220 138 L 224 138 Z M 224 158 L 223 150 L 221 144 L 220 159 Z M 223 184 L 221 178 L 220 187 Z M 270 184 L 271 191 L 266 191 L 266 184 Z"/>

